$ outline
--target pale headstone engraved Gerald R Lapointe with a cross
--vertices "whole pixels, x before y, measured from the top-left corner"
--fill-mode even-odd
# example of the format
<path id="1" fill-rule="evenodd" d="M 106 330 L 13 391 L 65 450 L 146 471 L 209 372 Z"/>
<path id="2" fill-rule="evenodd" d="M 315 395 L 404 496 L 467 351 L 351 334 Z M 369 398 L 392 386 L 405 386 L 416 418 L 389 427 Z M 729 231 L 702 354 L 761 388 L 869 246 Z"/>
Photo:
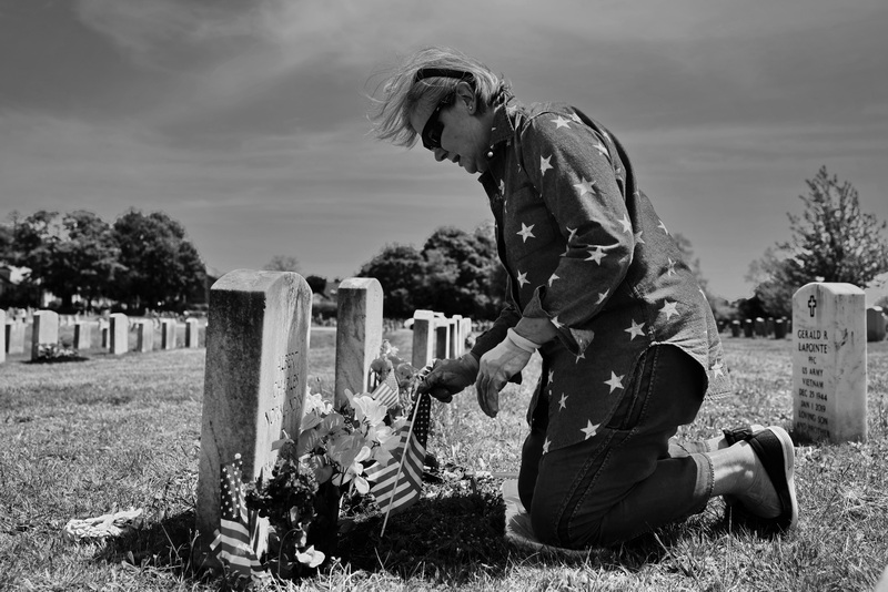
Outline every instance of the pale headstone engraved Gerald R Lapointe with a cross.
<path id="1" fill-rule="evenodd" d="M 866 296 L 815 283 L 793 297 L 795 430 L 811 440 L 867 438 Z"/>

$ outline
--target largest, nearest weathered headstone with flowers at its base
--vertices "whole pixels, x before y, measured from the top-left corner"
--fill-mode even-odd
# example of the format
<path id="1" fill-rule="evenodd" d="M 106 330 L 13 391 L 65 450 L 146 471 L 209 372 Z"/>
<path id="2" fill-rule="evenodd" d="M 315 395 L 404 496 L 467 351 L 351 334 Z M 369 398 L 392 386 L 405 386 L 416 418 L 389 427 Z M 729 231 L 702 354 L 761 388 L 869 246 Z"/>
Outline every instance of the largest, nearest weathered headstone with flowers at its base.
<path id="1" fill-rule="evenodd" d="M 281 430 L 296 437 L 307 385 L 312 292 L 299 274 L 238 269 L 210 288 L 200 476 L 198 561 L 220 528 L 222 465 L 241 455 L 243 480 L 271 474 Z M 253 529 L 256 554 L 268 520 Z M 200 563 L 199 563 L 200 564 Z"/>

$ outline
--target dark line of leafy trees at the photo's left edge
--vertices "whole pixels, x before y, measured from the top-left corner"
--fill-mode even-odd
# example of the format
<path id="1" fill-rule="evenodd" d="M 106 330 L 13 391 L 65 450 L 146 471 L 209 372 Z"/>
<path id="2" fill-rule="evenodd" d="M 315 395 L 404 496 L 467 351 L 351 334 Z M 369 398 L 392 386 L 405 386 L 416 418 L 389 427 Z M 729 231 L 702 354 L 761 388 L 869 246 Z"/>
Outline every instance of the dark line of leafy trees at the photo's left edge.
<path id="1" fill-rule="evenodd" d="M 162 212 L 132 208 L 113 224 L 82 210 L 13 213 L 0 225 L 0 262 L 29 269 L 3 293 L 4 306 L 33 306 L 43 292 L 61 300 L 61 310 L 109 300 L 181 310 L 189 300 L 205 302 L 203 261 L 184 227 Z"/>

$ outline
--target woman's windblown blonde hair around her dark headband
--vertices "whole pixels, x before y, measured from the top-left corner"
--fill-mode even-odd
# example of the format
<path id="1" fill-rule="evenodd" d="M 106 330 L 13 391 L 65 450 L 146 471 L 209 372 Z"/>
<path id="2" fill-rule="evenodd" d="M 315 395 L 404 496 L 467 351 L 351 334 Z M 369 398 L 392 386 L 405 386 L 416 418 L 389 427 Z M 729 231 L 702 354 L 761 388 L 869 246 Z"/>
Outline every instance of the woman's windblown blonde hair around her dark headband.
<path id="1" fill-rule="evenodd" d="M 417 72 L 430 69 L 464 72 L 471 76 L 426 75 L 417 80 Z M 376 92 L 370 96 L 374 103 L 374 110 L 369 114 L 373 122 L 373 134 L 377 140 L 406 147 L 416 142 L 417 134 L 411 127 L 410 115 L 418 104 L 436 104 L 461 81 L 467 81 L 475 89 L 477 112 L 484 113 L 501 91 L 509 89 L 508 82 L 480 61 L 442 47 L 423 48 L 403 58 L 382 75 L 385 80 L 376 85 Z"/>

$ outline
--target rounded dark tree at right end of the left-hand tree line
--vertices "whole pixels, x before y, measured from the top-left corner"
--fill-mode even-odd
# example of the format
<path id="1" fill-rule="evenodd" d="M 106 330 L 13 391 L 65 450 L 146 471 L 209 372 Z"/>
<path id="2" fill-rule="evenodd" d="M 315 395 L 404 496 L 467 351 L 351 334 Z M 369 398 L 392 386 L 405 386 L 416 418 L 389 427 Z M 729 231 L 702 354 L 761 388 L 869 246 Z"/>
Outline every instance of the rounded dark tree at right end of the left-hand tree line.
<path id="1" fill-rule="evenodd" d="M 184 227 L 163 212 L 130 210 L 114 222 L 124 266 L 117 297 L 132 306 L 175 308 L 204 288 L 206 268 Z"/>

